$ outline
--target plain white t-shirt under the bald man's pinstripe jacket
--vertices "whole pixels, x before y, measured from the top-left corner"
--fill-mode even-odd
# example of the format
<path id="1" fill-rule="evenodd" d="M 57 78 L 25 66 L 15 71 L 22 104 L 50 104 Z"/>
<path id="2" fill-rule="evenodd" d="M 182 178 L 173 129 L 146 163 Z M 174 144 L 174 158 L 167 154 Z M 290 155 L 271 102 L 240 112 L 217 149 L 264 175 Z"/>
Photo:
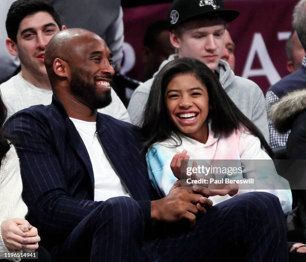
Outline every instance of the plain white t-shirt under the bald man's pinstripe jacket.
<path id="1" fill-rule="evenodd" d="M 94 176 L 94 200 L 104 201 L 114 196 L 129 196 L 97 139 L 96 122 L 87 122 L 71 117 L 70 119 L 82 138 L 90 157 Z"/>

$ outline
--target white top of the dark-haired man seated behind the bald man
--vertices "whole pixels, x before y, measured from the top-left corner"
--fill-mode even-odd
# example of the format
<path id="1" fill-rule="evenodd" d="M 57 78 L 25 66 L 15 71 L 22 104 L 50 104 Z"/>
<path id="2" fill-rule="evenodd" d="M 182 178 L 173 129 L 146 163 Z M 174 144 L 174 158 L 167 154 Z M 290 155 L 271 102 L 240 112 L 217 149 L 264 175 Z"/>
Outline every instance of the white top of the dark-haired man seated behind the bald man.
<path id="1" fill-rule="evenodd" d="M 36 104 L 50 104 L 52 91 L 38 88 L 26 81 L 20 73 L 0 84 L 1 96 L 7 107 L 7 118 L 17 111 Z M 119 120 L 130 122 L 127 110 L 116 94 L 111 89 L 111 103 L 98 112 L 108 114 Z"/>

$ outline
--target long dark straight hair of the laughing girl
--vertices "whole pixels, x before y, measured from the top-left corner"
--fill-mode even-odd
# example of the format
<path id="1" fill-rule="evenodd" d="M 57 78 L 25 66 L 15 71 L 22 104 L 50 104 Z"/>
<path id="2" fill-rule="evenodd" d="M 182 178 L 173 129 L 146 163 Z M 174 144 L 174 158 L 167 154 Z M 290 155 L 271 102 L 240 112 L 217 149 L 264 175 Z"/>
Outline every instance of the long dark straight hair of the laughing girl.
<path id="1" fill-rule="evenodd" d="M 219 83 L 216 74 L 202 62 L 190 57 L 168 62 L 158 72 L 152 83 L 141 127 L 145 148 L 155 142 L 173 138 L 173 134 L 181 142 L 180 132 L 170 120 L 164 101 L 167 85 L 175 75 L 180 73 L 192 73 L 197 80 L 206 86 L 209 97 L 208 117 L 213 132 L 227 135 L 233 130 L 245 126 L 249 133 L 259 138 L 261 147 L 273 158 L 273 151 L 262 133 L 232 102 Z"/>

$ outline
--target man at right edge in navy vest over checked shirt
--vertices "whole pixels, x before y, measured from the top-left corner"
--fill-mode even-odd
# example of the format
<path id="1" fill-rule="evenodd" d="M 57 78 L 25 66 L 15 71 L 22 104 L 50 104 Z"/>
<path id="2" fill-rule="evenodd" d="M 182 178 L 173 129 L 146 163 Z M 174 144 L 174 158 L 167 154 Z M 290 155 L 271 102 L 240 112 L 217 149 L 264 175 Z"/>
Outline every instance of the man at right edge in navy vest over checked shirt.
<path id="1" fill-rule="evenodd" d="M 293 10 L 292 27 L 296 31 L 298 39 L 304 49 L 306 50 L 306 0 L 300 0 Z M 305 88 L 306 86 L 306 56 L 302 60 L 301 67 L 288 74 L 287 76 L 274 83 L 266 92 L 265 106 L 266 111 L 269 114 L 270 107 L 276 101 L 279 101 L 287 92 L 295 89 Z M 285 133 L 279 133 L 276 131 L 274 124 L 269 117 L 269 134 L 270 134 L 270 146 L 272 148 L 285 146 L 287 142 L 290 130 Z"/>

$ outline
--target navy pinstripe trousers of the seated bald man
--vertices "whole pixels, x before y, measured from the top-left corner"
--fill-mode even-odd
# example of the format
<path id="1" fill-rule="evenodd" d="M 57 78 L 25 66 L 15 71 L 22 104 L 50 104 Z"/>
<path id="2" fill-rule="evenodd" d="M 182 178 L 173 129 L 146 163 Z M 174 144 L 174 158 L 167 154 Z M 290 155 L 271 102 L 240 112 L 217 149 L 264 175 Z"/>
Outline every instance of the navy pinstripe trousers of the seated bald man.
<path id="1" fill-rule="evenodd" d="M 113 197 L 91 211 L 64 243 L 54 261 L 288 261 L 286 225 L 276 196 L 249 192 L 183 222 L 145 228 L 137 202 Z"/>

